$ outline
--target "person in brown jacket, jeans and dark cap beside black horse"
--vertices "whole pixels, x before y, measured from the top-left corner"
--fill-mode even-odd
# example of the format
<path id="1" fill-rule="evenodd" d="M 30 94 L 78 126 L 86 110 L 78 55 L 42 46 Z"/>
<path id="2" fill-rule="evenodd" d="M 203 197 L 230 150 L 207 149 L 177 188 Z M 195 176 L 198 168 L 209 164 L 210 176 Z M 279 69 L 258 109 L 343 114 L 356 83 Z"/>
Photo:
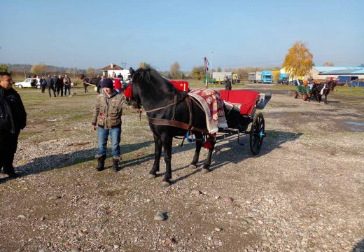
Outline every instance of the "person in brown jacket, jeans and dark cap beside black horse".
<path id="1" fill-rule="evenodd" d="M 104 169 L 106 160 L 107 139 L 111 138 L 111 153 L 113 155 L 113 171 L 120 169 L 120 135 L 121 115 L 125 104 L 125 97 L 113 90 L 113 80 L 106 78 L 102 80 L 103 94 L 99 94 L 94 106 L 92 116 L 92 130 L 97 130 L 97 171 Z"/>

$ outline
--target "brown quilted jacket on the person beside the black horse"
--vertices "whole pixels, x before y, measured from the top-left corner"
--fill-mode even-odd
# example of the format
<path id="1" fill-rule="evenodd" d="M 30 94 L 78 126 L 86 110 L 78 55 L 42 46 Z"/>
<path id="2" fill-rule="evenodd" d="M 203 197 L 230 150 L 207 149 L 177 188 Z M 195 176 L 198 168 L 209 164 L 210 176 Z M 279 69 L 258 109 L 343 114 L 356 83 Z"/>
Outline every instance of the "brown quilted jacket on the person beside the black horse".
<path id="1" fill-rule="evenodd" d="M 92 125 L 99 125 L 106 130 L 113 127 L 121 127 L 121 115 L 123 108 L 126 108 L 126 99 L 122 94 L 114 90 L 110 97 L 106 94 L 99 94 L 94 106 Z"/>

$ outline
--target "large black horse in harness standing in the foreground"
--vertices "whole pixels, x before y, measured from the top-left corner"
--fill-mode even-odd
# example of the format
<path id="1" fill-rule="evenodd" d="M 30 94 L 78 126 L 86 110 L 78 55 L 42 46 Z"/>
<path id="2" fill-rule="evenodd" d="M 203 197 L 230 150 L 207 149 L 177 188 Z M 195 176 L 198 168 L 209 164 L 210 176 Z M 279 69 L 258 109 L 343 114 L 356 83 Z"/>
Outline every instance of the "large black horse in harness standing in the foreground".
<path id="1" fill-rule="evenodd" d="M 169 186 L 172 179 L 172 139 L 175 136 L 184 137 L 188 130 L 176 125 L 160 125 L 155 123 L 155 119 L 165 119 L 165 122 L 175 120 L 175 122 L 184 123 L 185 125 L 192 125 L 197 130 L 192 128 L 190 130 L 191 133 L 195 134 L 196 139 L 202 139 L 205 133 L 198 130 L 207 129 L 205 113 L 195 102 L 188 104 L 186 100 L 190 99 L 190 97 L 187 92 L 177 90 L 167 79 L 160 76 L 155 69 L 139 68 L 137 71 L 134 71 L 134 69 L 130 68 L 130 74 L 132 75 L 132 103 L 134 103 L 137 109 L 141 108 L 141 104 L 143 105 L 154 137 L 154 164 L 149 172 L 149 178 L 154 179 L 160 170 L 160 155 L 163 147 L 165 151 L 166 173 L 162 186 Z M 191 121 L 189 111 L 191 111 L 192 115 Z M 204 173 L 209 172 L 211 155 L 216 141 L 213 139 L 210 143 L 209 154 L 202 167 L 202 172 Z M 195 155 L 190 163 L 190 167 L 197 168 L 201 147 L 202 141 L 196 141 Z"/>

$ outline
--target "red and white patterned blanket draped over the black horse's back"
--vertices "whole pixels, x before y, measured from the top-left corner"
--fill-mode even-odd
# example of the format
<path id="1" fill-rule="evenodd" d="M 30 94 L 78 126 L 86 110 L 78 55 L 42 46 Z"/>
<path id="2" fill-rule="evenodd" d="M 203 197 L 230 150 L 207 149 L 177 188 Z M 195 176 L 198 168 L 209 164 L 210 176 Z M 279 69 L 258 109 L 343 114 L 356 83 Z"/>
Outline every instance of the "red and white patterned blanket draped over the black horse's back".
<path id="1" fill-rule="evenodd" d="M 224 104 L 220 94 L 215 90 L 200 88 L 191 90 L 188 94 L 196 99 L 204 108 L 206 115 L 207 130 L 210 134 L 218 132 L 218 128 L 227 128 Z"/>

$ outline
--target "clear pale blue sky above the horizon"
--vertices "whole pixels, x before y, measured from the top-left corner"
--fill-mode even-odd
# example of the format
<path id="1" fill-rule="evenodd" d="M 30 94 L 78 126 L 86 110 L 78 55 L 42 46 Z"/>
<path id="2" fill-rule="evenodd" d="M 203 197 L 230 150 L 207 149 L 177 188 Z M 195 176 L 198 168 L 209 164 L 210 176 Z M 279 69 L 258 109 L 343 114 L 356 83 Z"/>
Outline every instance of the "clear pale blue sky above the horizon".
<path id="1" fill-rule="evenodd" d="M 295 41 L 316 65 L 364 63 L 364 1 L 0 0 L 0 62 L 181 70 L 280 66 Z M 211 51 L 213 53 L 211 53 Z M 74 59 L 74 61 L 72 61 Z"/>

